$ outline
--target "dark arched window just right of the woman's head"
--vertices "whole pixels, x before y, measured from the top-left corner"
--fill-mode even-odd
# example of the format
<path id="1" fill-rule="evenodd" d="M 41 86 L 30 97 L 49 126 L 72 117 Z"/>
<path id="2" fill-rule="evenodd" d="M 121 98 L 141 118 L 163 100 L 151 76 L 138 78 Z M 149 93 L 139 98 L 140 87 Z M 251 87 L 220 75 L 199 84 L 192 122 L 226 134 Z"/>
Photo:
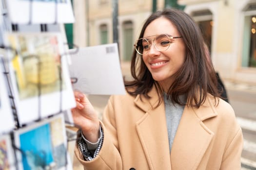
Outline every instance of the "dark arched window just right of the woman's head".
<path id="1" fill-rule="evenodd" d="M 212 20 L 212 12 L 210 10 L 201 10 L 201 11 L 195 11 L 192 13 L 192 17 L 197 22 L 204 41 L 206 45 L 209 48 L 209 51 L 211 52 L 212 47 L 212 28 L 214 25 L 214 22 Z"/>

